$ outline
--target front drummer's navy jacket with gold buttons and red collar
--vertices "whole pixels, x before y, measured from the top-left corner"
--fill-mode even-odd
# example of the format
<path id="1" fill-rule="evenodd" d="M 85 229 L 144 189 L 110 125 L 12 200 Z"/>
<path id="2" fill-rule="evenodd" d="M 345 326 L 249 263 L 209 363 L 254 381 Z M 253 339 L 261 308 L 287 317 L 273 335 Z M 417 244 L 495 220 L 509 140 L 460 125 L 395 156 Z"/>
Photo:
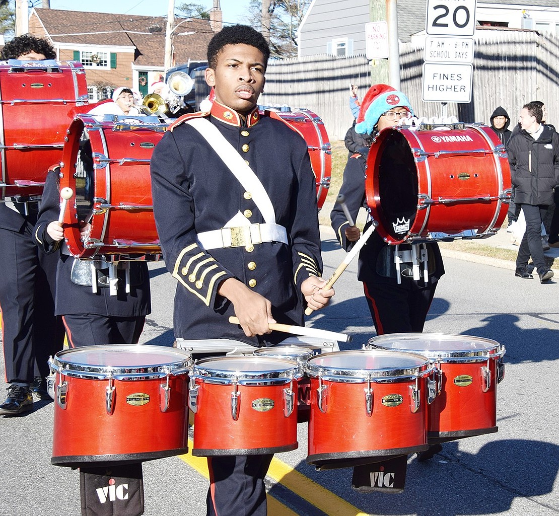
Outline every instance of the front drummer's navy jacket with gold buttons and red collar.
<path id="1" fill-rule="evenodd" d="M 202 248 L 197 234 L 222 228 L 238 212 L 251 224 L 264 219 L 252 194 L 245 192 L 207 141 L 181 123 L 192 116 L 210 120 L 257 174 L 276 211 L 276 224 L 287 229 L 288 245 Z M 257 110 L 244 126 L 241 122 L 238 113 L 214 102 L 211 115 L 178 119 L 151 158 L 155 223 L 165 263 L 178 282 L 174 302 L 178 338 L 277 343 L 286 335 L 272 332 L 249 338 L 229 323 L 234 308 L 218 295 L 220 283 L 237 278 L 271 301 L 278 323 L 302 325 L 301 282 L 321 273 L 315 177 L 305 140 Z"/>

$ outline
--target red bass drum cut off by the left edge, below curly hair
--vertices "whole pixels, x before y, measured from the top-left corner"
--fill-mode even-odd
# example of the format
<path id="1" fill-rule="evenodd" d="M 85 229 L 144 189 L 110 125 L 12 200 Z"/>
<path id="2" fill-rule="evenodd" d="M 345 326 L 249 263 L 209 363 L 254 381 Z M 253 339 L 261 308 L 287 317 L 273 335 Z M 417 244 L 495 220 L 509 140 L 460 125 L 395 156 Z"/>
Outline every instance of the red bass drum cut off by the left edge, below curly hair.
<path id="1" fill-rule="evenodd" d="M 41 195 L 50 165 L 60 161 L 69 112 L 87 103 L 80 63 L 0 64 L 0 198 Z"/>

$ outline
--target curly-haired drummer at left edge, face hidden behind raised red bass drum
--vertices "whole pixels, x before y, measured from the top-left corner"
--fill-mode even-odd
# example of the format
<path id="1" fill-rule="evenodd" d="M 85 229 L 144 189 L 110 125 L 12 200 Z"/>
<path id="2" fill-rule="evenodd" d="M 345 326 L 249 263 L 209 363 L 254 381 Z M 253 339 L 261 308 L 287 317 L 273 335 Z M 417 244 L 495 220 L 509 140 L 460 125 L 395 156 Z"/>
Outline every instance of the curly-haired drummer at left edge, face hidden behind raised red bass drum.
<path id="1" fill-rule="evenodd" d="M 25 34 L 6 44 L 0 59 L 56 59 L 56 53 L 48 41 Z M 32 240 L 39 202 L 25 195 L 4 201 L 0 201 L 0 308 L 9 385 L 0 414 L 13 415 L 31 408 L 33 392 L 49 399 L 47 361 L 63 348 L 64 327 L 54 315 L 56 258 L 40 252 Z"/>

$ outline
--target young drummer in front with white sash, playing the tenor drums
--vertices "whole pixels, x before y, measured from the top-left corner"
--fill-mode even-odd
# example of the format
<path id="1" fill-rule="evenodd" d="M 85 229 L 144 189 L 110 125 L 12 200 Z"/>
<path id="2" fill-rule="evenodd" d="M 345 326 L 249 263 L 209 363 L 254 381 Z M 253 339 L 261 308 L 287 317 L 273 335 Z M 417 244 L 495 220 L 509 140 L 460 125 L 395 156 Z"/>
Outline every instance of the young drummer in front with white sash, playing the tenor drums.
<path id="1" fill-rule="evenodd" d="M 320 309 L 334 293 L 321 290 L 306 143 L 256 107 L 268 56 L 266 40 L 250 27 L 216 34 L 206 70 L 215 89 L 211 113 L 179 118 L 151 159 L 155 221 L 165 263 L 178 282 L 178 338 L 278 343 L 285 334 L 271 333 L 269 323 L 301 325 L 306 305 Z M 201 131 L 210 132 L 209 141 Z M 241 329 L 229 323 L 231 315 Z M 207 514 L 265 515 L 263 479 L 271 459 L 209 458 Z"/>

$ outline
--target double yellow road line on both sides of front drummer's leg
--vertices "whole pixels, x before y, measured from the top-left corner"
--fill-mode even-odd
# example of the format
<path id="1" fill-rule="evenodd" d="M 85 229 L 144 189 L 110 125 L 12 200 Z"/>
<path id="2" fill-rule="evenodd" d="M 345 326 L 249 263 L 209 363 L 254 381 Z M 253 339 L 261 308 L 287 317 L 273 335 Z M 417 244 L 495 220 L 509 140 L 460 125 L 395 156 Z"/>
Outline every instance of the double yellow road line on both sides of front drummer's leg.
<path id="1" fill-rule="evenodd" d="M 188 449 L 191 450 L 192 447 L 192 440 L 188 439 Z M 180 458 L 198 473 L 205 476 L 206 479 L 210 478 L 206 457 L 195 457 L 189 451 L 185 455 L 181 455 Z M 292 493 L 300 496 L 328 516 L 368 516 L 367 513 L 361 512 L 357 507 L 349 504 L 299 471 L 293 470 L 291 466 L 276 457 L 272 459 L 267 476 L 287 487 Z M 272 495 L 268 496 L 268 514 L 269 516 L 297 516 L 297 513 L 273 498 Z"/>

